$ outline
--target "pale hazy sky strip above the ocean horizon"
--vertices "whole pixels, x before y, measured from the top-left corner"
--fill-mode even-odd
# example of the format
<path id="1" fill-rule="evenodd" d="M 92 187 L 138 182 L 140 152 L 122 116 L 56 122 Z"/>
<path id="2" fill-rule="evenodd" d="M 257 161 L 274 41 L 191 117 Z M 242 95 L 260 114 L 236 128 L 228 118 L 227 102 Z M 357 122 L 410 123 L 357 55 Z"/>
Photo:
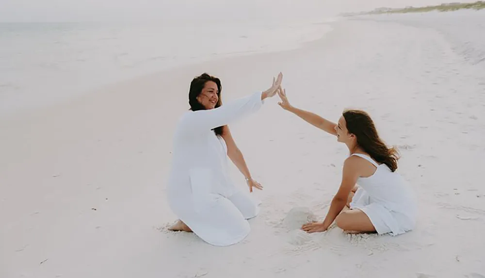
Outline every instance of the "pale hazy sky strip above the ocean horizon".
<path id="1" fill-rule="evenodd" d="M 0 21 L 167 20 L 196 17 L 330 16 L 376 7 L 429 5 L 443 0 L 0 0 Z M 192 20 L 191 20 L 192 21 Z"/>

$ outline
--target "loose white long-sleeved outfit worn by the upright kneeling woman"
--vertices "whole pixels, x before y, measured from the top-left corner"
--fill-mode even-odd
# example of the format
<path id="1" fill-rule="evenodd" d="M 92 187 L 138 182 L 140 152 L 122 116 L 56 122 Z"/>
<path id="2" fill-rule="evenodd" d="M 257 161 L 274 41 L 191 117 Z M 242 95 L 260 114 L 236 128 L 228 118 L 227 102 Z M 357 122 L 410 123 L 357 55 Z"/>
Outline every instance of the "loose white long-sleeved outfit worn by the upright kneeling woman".
<path id="1" fill-rule="evenodd" d="M 227 146 L 212 129 L 258 111 L 261 93 L 211 110 L 188 111 L 174 135 L 172 169 L 167 192 L 172 211 L 211 245 L 240 242 L 249 231 L 246 219 L 259 213 L 258 204 L 228 175 Z"/>

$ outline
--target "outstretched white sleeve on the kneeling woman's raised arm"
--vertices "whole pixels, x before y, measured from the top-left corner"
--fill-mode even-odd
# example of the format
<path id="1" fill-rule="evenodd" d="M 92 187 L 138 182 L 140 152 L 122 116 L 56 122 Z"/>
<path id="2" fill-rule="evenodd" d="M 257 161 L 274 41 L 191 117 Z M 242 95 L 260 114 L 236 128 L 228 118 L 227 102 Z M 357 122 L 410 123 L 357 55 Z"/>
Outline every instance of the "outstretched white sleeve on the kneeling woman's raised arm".
<path id="1" fill-rule="evenodd" d="M 261 92 L 239 98 L 210 110 L 199 110 L 186 114 L 181 121 L 181 130 L 198 133 L 227 125 L 261 108 Z"/>

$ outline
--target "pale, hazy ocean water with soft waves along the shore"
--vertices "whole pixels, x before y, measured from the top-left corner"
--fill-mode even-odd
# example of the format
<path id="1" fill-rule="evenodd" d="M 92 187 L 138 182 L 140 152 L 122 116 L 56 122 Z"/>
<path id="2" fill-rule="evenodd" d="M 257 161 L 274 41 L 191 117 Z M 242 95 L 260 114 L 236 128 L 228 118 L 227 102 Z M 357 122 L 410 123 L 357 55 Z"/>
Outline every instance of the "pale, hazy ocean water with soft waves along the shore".
<path id="1" fill-rule="evenodd" d="M 334 20 L 0 23 L 0 115 L 174 66 L 298 48 L 321 38 Z"/>

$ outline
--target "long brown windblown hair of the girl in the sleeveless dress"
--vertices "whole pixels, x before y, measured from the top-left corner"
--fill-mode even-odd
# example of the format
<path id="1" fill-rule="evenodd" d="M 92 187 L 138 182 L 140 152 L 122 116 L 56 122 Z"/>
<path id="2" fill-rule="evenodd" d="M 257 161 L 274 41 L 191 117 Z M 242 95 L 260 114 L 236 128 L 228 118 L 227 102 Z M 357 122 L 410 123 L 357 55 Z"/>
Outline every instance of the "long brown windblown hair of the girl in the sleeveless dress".
<path id="1" fill-rule="evenodd" d="M 392 172 L 396 171 L 398 150 L 396 147 L 387 147 L 379 138 L 369 114 L 361 110 L 346 110 L 343 117 L 347 123 L 347 130 L 356 136 L 357 145 L 379 164 L 386 164 Z"/>

